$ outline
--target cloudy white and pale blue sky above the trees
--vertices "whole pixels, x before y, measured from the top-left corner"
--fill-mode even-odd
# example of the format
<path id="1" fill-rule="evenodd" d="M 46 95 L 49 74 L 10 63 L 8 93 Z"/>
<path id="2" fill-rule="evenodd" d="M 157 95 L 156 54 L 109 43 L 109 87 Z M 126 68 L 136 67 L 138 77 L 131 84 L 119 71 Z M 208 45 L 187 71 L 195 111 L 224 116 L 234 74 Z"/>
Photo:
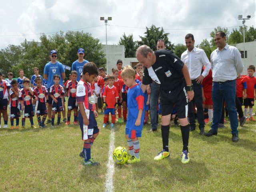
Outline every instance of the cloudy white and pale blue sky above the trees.
<path id="1" fill-rule="evenodd" d="M 170 33 L 169 40 L 184 44 L 188 33 L 195 44 L 210 40 L 217 26 L 256 27 L 256 0 L 9 0 L 0 6 L 0 49 L 26 40 L 39 41 L 40 33 L 83 30 L 106 44 L 106 26 L 100 17 L 112 17 L 107 25 L 108 44 L 118 44 L 120 37 L 133 34 L 134 40 L 144 36 L 146 26 L 154 24 Z"/>

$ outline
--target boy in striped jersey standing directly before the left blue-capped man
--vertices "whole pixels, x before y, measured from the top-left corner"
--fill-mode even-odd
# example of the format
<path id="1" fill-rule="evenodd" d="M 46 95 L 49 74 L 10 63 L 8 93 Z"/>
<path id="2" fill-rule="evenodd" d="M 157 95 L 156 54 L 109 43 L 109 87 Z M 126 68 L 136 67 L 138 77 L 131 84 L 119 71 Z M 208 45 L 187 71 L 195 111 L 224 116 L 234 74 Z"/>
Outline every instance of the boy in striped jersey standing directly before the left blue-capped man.
<path id="1" fill-rule="evenodd" d="M 63 87 L 59 84 L 60 76 L 58 74 L 53 76 L 54 85 L 50 88 L 50 97 L 52 98 L 52 126 L 54 126 L 54 118 L 56 112 L 58 113 L 57 125 L 60 125 L 60 112 L 63 111 L 62 98 L 65 95 Z"/>

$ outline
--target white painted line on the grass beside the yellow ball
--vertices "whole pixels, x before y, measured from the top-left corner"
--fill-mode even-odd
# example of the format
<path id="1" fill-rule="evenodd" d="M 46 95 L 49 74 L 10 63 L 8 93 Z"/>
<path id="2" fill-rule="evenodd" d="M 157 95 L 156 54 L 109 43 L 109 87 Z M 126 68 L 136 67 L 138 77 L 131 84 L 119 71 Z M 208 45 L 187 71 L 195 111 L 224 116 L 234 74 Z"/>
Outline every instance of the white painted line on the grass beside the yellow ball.
<path id="1" fill-rule="evenodd" d="M 105 182 L 105 192 L 113 192 L 114 184 L 113 184 L 113 176 L 114 176 L 114 160 L 113 160 L 113 151 L 115 149 L 115 132 L 114 128 L 111 128 L 110 136 L 109 136 L 109 149 L 108 149 L 108 171 L 106 174 L 106 182 Z"/>

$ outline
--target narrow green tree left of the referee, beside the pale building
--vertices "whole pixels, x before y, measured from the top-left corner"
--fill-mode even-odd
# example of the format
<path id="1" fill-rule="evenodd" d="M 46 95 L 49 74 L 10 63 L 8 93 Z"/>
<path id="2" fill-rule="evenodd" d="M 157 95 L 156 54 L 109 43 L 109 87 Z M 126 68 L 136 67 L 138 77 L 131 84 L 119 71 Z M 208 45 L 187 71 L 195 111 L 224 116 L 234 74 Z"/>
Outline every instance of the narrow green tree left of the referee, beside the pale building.
<path id="1" fill-rule="evenodd" d="M 125 33 L 120 37 L 119 43 L 120 45 L 124 45 L 125 52 L 124 56 L 126 58 L 128 57 L 135 57 L 136 47 L 135 42 L 133 41 L 133 35 L 130 34 L 128 36 L 125 35 Z"/>

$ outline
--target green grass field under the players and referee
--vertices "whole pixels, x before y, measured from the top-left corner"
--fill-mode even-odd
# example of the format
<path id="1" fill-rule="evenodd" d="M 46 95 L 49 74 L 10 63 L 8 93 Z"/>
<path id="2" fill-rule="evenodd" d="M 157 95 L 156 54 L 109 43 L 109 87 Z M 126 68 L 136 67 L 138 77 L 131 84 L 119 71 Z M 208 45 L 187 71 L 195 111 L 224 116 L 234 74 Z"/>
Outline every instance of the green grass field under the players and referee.
<path id="1" fill-rule="evenodd" d="M 100 115 L 98 126 L 102 121 Z M 35 118 L 34 124 L 38 127 Z M 170 158 L 156 162 L 153 158 L 162 150 L 160 126 L 150 133 L 150 126 L 145 126 L 141 162 L 114 166 L 114 191 L 255 192 L 256 122 L 239 126 L 236 143 L 231 141 L 228 120 L 225 125 L 210 138 L 199 135 L 198 129 L 190 133 L 189 164 L 180 162 L 179 127 L 170 128 Z M 30 127 L 29 120 L 26 126 Z M 127 146 L 124 130 L 125 124 L 116 123 L 115 147 Z M 92 157 L 100 166 L 84 167 L 79 157 L 83 144 L 79 126 L 0 129 L 0 191 L 105 191 L 109 135 L 109 126 L 101 128 L 92 146 Z"/>

